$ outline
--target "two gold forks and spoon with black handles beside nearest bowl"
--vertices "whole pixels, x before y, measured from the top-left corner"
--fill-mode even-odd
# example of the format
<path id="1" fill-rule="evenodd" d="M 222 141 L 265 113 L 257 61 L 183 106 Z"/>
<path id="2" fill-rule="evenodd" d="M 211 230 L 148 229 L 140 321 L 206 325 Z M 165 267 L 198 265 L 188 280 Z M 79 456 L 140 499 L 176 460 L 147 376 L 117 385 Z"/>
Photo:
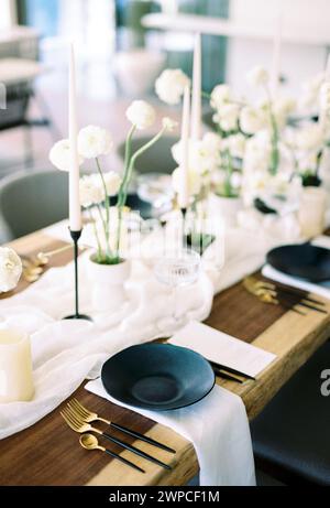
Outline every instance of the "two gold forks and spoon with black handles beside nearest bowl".
<path id="1" fill-rule="evenodd" d="M 143 441 L 144 443 L 147 443 L 150 444 L 151 446 L 154 446 L 154 447 L 157 447 L 157 448 L 161 448 L 161 450 L 164 450 L 166 451 L 167 453 L 170 453 L 170 454 L 175 454 L 175 450 L 170 448 L 169 446 L 166 446 L 165 444 L 163 443 L 160 443 L 158 441 L 155 441 L 151 437 L 147 437 L 143 434 L 140 434 L 139 432 L 135 432 L 131 429 L 128 429 L 125 426 L 122 426 L 122 425 L 119 425 L 118 423 L 114 423 L 112 421 L 109 421 L 109 420 L 106 420 L 101 417 L 99 417 L 97 413 L 92 412 L 92 411 L 89 411 L 87 408 L 85 408 L 77 399 L 72 399 L 69 402 L 67 402 L 66 407 L 63 409 L 63 411 L 61 411 L 61 415 L 62 418 L 65 420 L 65 422 L 67 423 L 67 425 L 75 432 L 77 432 L 78 434 L 81 434 L 80 439 L 79 439 L 79 443 L 80 445 L 85 448 L 85 450 L 89 450 L 89 451 L 100 451 L 100 452 L 103 452 L 103 453 L 107 453 L 108 455 L 110 455 L 112 458 L 117 458 L 118 461 L 124 463 L 125 465 L 141 472 L 141 473 L 145 473 L 144 469 L 142 469 L 141 467 L 139 467 L 136 464 L 134 464 L 133 462 L 122 457 L 121 455 L 114 453 L 114 452 L 111 452 L 110 450 L 107 450 L 106 447 L 103 446 L 100 446 L 99 445 L 99 442 L 98 442 L 98 439 L 92 434 L 98 434 L 105 439 L 107 439 L 108 441 L 110 441 L 111 443 L 113 444 L 117 444 L 119 446 L 121 446 L 122 448 L 124 450 L 128 450 L 129 452 L 131 452 L 132 454 L 134 455 L 138 455 L 148 462 L 152 462 L 154 464 L 157 464 L 158 466 L 165 468 L 165 469 L 172 469 L 172 467 L 167 464 L 165 464 L 164 462 L 162 461 L 158 461 L 157 458 L 155 458 L 154 456 L 143 452 L 142 450 L 138 448 L 136 446 L 133 446 L 118 437 L 114 437 L 113 435 L 110 435 L 106 432 L 102 432 L 101 430 L 95 428 L 91 425 L 91 423 L 94 422 L 102 422 L 102 423 L 107 423 L 107 425 L 109 425 L 110 428 L 112 429 L 116 429 L 117 431 L 120 431 L 127 435 L 130 435 L 131 437 L 135 437 L 135 440 L 140 440 L 140 441 Z"/>

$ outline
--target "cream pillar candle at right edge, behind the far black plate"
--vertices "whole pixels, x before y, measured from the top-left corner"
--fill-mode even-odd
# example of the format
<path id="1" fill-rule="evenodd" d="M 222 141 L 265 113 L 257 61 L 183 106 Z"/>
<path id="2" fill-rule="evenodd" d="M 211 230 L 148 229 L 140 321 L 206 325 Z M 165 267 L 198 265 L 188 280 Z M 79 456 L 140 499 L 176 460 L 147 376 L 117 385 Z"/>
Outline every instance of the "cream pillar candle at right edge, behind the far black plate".
<path id="1" fill-rule="evenodd" d="M 305 187 L 298 213 L 304 238 L 321 235 L 326 227 L 327 192 L 322 187 Z"/>

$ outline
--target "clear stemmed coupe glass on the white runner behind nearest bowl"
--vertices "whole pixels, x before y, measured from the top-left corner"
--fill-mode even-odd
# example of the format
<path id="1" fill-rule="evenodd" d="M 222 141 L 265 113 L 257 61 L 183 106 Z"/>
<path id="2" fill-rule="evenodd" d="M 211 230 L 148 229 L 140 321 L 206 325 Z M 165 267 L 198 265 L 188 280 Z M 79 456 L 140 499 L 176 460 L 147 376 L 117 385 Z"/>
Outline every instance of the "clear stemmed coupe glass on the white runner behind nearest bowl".
<path id="1" fill-rule="evenodd" d="M 155 267 L 156 279 L 173 290 L 173 320 L 178 323 L 177 291 L 178 288 L 194 284 L 198 280 L 200 270 L 200 256 L 191 249 L 180 249 L 161 258 Z"/>

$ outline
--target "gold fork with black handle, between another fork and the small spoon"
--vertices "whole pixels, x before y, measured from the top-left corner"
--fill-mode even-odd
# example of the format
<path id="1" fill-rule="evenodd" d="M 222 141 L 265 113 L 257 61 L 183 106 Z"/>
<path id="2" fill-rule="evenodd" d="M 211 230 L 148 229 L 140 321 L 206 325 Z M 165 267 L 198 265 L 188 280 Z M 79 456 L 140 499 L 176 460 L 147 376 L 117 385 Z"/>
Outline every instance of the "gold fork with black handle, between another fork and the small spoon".
<path id="1" fill-rule="evenodd" d="M 136 448 L 135 446 L 124 443 L 121 440 L 118 440 L 117 437 L 113 437 L 110 434 L 107 434 L 106 432 L 100 431 L 99 429 L 96 429 L 90 425 L 90 423 L 84 422 L 80 417 L 77 415 L 70 408 L 64 408 L 63 411 L 61 411 L 62 418 L 65 420 L 65 422 L 68 424 L 68 426 L 75 431 L 78 432 L 78 434 L 84 434 L 85 432 L 96 432 L 99 435 L 102 435 L 107 440 L 111 441 L 114 444 L 118 444 L 119 446 L 129 450 L 130 452 L 134 453 L 135 455 L 139 455 L 142 458 L 145 458 L 146 461 L 153 462 L 154 464 L 157 464 L 158 466 L 164 467 L 165 469 L 172 469 L 170 466 L 167 464 L 164 464 L 164 462 L 158 461 L 157 458 L 148 455 L 145 452 L 142 452 L 141 450 Z"/>

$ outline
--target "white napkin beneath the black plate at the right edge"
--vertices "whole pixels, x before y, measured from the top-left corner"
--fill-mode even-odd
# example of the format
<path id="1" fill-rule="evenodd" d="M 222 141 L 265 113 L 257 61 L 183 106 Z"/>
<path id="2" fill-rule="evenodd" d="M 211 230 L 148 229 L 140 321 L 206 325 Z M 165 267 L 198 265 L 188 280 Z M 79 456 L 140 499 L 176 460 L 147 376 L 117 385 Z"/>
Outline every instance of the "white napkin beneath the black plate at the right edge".
<path id="1" fill-rule="evenodd" d="M 312 241 L 312 245 L 316 245 L 318 247 L 323 247 L 324 249 L 330 249 L 330 238 L 326 236 L 320 236 Z M 321 282 L 318 284 L 314 282 L 307 282 L 302 279 L 287 275 L 286 273 L 283 273 L 279 270 L 276 270 L 270 264 L 266 264 L 263 268 L 262 273 L 264 277 L 275 282 L 279 282 L 286 285 L 292 285 L 293 288 L 297 288 L 302 291 L 308 291 L 309 293 L 315 293 L 315 294 L 318 294 L 322 298 L 330 300 L 330 281 Z"/>

